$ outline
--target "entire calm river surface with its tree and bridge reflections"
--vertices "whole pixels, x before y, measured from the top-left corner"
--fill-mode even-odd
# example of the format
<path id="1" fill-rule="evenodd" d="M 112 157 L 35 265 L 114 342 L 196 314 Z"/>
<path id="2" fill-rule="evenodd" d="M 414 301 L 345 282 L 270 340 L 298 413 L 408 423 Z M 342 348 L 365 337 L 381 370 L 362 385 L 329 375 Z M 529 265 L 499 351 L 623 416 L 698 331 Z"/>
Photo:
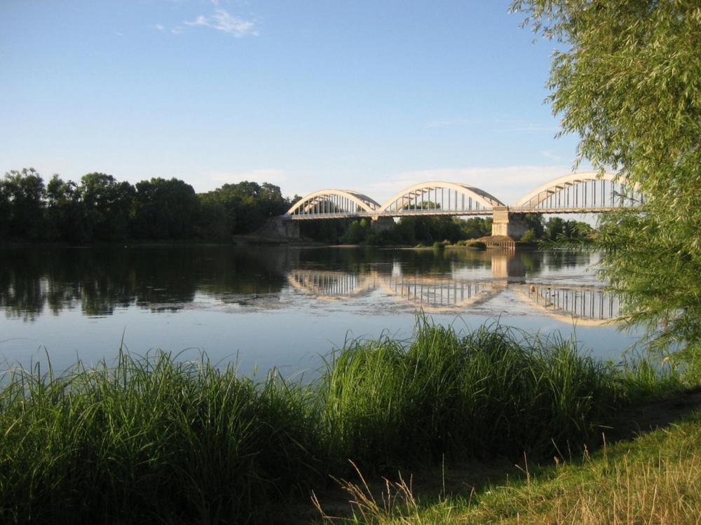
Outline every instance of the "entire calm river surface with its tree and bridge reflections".
<path id="1" fill-rule="evenodd" d="M 204 350 L 243 373 L 315 368 L 353 337 L 409 337 L 417 309 L 460 330 L 499 322 L 573 329 L 601 358 L 635 334 L 604 323 L 595 253 L 233 248 L 0 249 L 0 358 L 63 369 L 133 353 Z M 576 325 L 576 328 L 574 328 Z"/>

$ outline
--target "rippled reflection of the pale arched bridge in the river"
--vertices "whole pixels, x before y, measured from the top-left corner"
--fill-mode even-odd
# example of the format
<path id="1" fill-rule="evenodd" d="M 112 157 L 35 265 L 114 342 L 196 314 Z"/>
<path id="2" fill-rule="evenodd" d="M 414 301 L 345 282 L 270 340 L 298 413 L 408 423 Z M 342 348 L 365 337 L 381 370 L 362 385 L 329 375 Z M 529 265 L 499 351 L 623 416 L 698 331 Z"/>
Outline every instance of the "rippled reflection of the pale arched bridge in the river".
<path id="1" fill-rule="evenodd" d="M 290 286 L 317 300 L 348 300 L 377 291 L 416 308 L 435 313 L 460 313 L 510 291 L 540 313 L 579 325 L 611 323 L 620 312 L 618 297 L 601 286 L 572 286 L 557 282 L 527 282 L 521 259 L 503 252 L 491 254 L 491 276 L 477 279 L 460 268 L 435 276 L 407 275 L 402 265 L 365 272 L 295 268 L 287 274 Z"/>

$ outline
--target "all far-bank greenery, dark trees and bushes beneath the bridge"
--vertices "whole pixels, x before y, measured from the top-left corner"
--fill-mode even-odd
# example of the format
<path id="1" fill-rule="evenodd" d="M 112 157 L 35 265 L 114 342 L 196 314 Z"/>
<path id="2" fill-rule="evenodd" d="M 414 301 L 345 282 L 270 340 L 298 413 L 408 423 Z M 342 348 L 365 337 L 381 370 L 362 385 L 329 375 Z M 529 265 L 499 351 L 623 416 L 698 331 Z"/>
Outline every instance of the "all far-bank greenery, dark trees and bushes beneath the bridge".
<path id="1" fill-rule="evenodd" d="M 76 183 L 54 175 L 48 183 L 31 168 L 0 180 L 0 242 L 213 241 L 250 235 L 284 214 L 299 197 L 283 197 L 270 183 L 242 181 L 195 193 L 179 179 L 157 177 L 132 185 L 90 173 Z M 526 216 L 524 242 L 583 239 L 592 227 L 559 217 Z M 491 218 L 405 217 L 375 232 L 367 219 L 303 221 L 301 235 L 327 244 L 415 246 L 491 235 Z M 243 237 L 240 237 L 243 239 Z"/>

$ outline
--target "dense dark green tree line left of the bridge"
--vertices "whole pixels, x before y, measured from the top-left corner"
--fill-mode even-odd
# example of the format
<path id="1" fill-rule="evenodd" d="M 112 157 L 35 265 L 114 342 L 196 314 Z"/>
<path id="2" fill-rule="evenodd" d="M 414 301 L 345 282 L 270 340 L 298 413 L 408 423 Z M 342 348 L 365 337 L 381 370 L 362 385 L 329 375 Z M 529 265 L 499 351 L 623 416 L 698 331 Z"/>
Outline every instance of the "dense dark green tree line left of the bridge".
<path id="1" fill-rule="evenodd" d="M 243 181 L 195 193 L 175 178 L 132 185 L 104 173 L 79 182 L 54 175 L 44 183 L 25 168 L 0 180 L 0 241 L 225 241 L 254 232 L 292 202 L 270 183 Z"/>

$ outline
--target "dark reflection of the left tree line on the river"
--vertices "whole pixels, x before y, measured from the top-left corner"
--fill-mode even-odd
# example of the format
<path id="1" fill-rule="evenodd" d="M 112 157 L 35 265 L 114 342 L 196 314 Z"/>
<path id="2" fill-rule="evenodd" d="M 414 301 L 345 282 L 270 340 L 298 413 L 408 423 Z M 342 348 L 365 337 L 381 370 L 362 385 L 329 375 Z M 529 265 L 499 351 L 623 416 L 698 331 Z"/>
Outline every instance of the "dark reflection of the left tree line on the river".
<path id="1" fill-rule="evenodd" d="M 13 248 L 0 250 L 0 309 L 33 321 L 48 309 L 80 308 L 86 316 L 141 307 L 182 308 L 198 291 L 222 301 L 279 293 L 284 252 L 226 248 Z"/>

